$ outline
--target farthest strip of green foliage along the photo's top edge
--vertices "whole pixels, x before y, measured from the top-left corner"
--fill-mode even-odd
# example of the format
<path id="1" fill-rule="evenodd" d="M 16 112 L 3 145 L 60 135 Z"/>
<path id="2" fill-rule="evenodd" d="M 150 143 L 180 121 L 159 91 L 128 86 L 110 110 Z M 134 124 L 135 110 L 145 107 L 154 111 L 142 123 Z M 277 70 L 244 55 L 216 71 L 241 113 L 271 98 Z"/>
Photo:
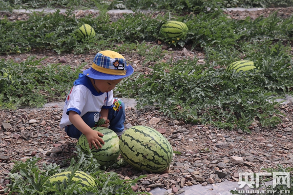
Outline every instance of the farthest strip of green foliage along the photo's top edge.
<path id="1" fill-rule="evenodd" d="M 3 0 L 0 0 L 0 2 Z M 149 9 L 167 10 L 177 13 L 200 12 L 208 7 L 274 7 L 291 6 L 293 0 L 7 0 L 6 7 L 16 9 L 41 7 L 74 7 L 98 9 Z M 4 7 L 5 8 L 5 7 Z M 3 9 L 3 7 L 1 7 Z M 5 9 L 3 9 L 5 10 Z"/>

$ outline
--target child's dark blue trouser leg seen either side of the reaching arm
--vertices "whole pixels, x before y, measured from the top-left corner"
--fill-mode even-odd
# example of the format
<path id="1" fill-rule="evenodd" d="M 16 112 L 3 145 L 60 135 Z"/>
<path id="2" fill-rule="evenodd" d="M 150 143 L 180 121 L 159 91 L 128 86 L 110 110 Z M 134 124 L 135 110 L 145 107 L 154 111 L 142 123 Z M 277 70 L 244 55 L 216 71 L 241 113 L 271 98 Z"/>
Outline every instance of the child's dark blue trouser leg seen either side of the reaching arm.
<path id="1" fill-rule="evenodd" d="M 94 127 L 100 118 L 100 113 L 99 112 L 88 112 L 82 118 L 83 118 L 84 122 L 89 127 Z M 74 125 L 66 126 L 65 132 L 67 133 L 67 135 L 69 137 L 73 137 L 73 138 L 77 138 L 77 139 L 82 135 L 82 132 L 79 131 Z"/>

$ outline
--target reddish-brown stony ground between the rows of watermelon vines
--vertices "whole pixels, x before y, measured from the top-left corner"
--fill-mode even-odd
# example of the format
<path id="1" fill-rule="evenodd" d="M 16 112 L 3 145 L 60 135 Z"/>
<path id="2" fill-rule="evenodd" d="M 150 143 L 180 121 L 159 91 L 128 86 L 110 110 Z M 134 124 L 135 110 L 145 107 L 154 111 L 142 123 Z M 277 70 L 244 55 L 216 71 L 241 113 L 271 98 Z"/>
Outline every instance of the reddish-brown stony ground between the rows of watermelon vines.
<path id="1" fill-rule="evenodd" d="M 277 9 L 266 9 L 253 12 L 227 11 L 231 18 L 241 20 L 247 16 L 255 19 L 257 16 L 267 16 Z M 289 17 L 292 8 L 279 9 L 277 14 Z M 3 17 L 3 15 L 0 17 Z M 11 14 L 11 20 L 25 20 L 26 14 Z M 113 16 L 114 18 L 119 16 Z M 180 49 L 169 51 L 163 60 L 198 58 L 198 63 L 204 57 L 198 51 Z M 57 55 L 53 52 L 1 56 L 2 59 L 22 61 L 31 55 L 47 63 L 64 63 L 72 66 L 86 62 L 88 67 L 95 53 L 74 55 Z M 142 67 L 144 57 L 123 54 L 128 62 L 133 64 L 135 71 L 144 71 Z M 86 67 L 85 67 L 86 68 Z M 288 98 L 287 104 L 278 108 L 282 123 L 273 129 L 265 129 L 257 122 L 251 124 L 251 134 L 241 130 L 227 131 L 209 125 L 190 125 L 172 120 L 153 107 L 142 110 L 126 108 L 127 127 L 147 125 L 163 133 L 169 140 L 176 154 L 170 166 L 169 173 L 147 174 L 134 190 L 139 192 L 150 191 L 155 187 L 170 189 L 170 193 L 181 192 L 184 186 L 195 184 L 212 184 L 225 179 L 238 180 L 238 173 L 257 173 L 261 168 L 274 168 L 277 164 L 293 167 L 293 99 Z M 66 136 L 59 128 L 63 108 L 53 106 L 42 109 L 0 110 L 0 194 L 4 194 L 5 185 L 10 181 L 5 179 L 13 167 L 13 160 L 25 160 L 32 156 L 42 157 L 42 162 L 56 163 L 61 167 L 67 166 L 66 159 L 71 159 L 75 151 L 76 140 Z M 40 164 L 42 163 L 40 162 Z M 121 175 L 133 177 L 141 174 L 129 166 L 118 169 L 108 169 Z"/>

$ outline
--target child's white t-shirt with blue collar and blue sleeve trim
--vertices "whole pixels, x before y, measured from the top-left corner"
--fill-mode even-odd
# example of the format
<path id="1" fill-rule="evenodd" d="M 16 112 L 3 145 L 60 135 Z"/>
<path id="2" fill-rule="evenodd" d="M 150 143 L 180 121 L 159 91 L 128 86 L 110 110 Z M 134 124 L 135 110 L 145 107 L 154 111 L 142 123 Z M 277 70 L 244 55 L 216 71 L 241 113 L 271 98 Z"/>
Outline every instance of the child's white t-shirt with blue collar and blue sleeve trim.
<path id="1" fill-rule="evenodd" d="M 60 128 L 72 124 L 68 116 L 69 111 L 74 111 L 82 117 L 87 112 L 101 112 L 102 108 L 112 108 L 113 100 L 112 90 L 108 93 L 98 93 L 90 79 L 80 74 L 66 97 Z"/>

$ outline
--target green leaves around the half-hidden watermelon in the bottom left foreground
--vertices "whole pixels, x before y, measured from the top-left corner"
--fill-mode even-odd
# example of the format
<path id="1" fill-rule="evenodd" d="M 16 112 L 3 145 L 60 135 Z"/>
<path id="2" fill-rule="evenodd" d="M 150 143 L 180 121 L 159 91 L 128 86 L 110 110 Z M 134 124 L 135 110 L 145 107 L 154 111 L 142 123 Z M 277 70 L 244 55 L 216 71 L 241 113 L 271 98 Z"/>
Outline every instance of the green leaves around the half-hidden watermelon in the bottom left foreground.
<path id="1" fill-rule="evenodd" d="M 91 154 L 84 154 L 80 148 L 77 147 L 77 156 L 72 158 L 70 166 L 66 169 L 60 169 L 56 164 L 46 165 L 43 163 L 42 168 L 37 165 L 41 158 L 30 158 L 26 162 L 16 161 L 11 170 L 8 179 L 11 184 L 8 184 L 5 192 L 8 195 L 20 193 L 23 195 L 48 195 L 50 189 L 53 188 L 52 183 L 47 183 L 46 180 L 57 173 L 70 171 L 72 174 L 67 182 L 59 182 L 54 188 L 55 195 L 136 195 L 132 191 L 131 186 L 135 185 L 139 179 L 145 176 L 139 176 L 135 179 L 124 180 L 121 179 L 114 172 L 104 173 L 100 170 L 99 163 Z M 98 188 L 89 187 L 87 190 L 80 188 L 79 182 L 72 181 L 72 177 L 76 171 L 83 171 L 95 178 Z M 9 191 L 8 191 L 9 190 Z M 148 194 L 148 193 L 146 193 Z"/>

